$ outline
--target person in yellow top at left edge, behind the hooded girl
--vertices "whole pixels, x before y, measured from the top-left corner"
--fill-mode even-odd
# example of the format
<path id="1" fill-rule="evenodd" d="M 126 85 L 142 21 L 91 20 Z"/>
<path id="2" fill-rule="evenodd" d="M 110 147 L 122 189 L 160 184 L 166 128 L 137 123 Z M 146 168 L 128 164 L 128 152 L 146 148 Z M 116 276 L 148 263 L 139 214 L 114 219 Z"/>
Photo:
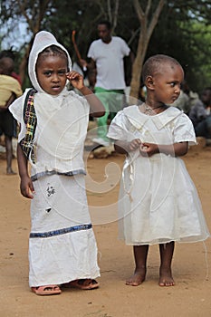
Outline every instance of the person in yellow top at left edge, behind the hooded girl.
<path id="1" fill-rule="evenodd" d="M 20 83 L 12 77 L 14 61 L 10 57 L 0 59 L 0 135 L 5 134 L 6 174 L 14 175 L 12 168 L 14 130 L 16 124 L 8 110 L 10 104 L 23 94 Z"/>

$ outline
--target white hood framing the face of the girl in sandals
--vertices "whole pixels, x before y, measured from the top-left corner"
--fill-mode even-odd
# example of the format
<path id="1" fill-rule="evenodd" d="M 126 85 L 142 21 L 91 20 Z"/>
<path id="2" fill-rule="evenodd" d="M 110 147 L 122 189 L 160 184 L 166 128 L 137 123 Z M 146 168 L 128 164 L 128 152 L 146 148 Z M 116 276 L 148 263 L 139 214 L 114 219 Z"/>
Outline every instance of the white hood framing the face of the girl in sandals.
<path id="1" fill-rule="evenodd" d="M 33 83 L 33 86 L 36 91 L 39 92 L 44 92 L 39 83 L 37 82 L 36 78 L 36 72 L 35 72 L 35 66 L 37 62 L 37 58 L 39 53 L 43 52 L 43 50 L 51 45 L 56 45 L 59 46 L 66 54 L 68 57 L 68 67 L 70 71 L 72 70 L 72 60 L 67 52 L 67 50 L 62 46 L 62 44 L 58 43 L 53 36 L 53 34 L 46 32 L 46 31 L 41 31 L 38 34 L 35 35 L 34 37 L 34 43 L 32 50 L 29 54 L 29 63 L 28 63 L 28 72 L 29 72 L 29 78 L 31 82 Z"/>

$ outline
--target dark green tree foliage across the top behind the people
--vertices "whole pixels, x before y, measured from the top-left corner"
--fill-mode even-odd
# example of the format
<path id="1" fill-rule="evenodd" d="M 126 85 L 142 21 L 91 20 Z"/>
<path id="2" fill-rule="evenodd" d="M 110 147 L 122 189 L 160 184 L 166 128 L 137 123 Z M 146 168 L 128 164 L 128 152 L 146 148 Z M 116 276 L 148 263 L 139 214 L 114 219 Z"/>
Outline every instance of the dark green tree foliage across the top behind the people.
<path id="1" fill-rule="evenodd" d="M 8 35 L 17 36 L 20 22 L 28 25 L 27 34 L 33 39 L 39 30 L 52 32 L 59 42 L 69 50 L 72 60 L 77 61 L 72 45 L 72 31 L 82 58 L 90 43 L 98 38 L 96 25 L 101 19 L 115 21 L 114 8 L 118 0 L 1 0 L 0 39 Z M 109 5 L 110 4 L 110 8 Z M 145 10 L 148 0 L 141 0 Z M 152 5 L 157 5 L 153 0 Z M 211 85 L 211 2 L 210 0 L 170 0 L 160 14 L 158 24 L 149 42 L 146 58 L 155 53 L 166 53 L 177 58 L 186 72 L 186 79 L 195 91 Z M 154 11 L 151 10 L 150 14 Z M 150 17 L 149 14 L 149 17 Z M 119 1 L 117 24 L 114 35 L 120 35 L 129 43 L 133 53 L 137 52 L 139 19 L 132 0 Z M 14 38 L 15 41 L 15 38 Z M 26 41 L 26 40 L 25 40 Z M 28 41 L 29 42 L 29 41 Z M 8 49 L 13 46 L 13 41 Z M 24 56 L 26 43 L 20 47 L 20 58 Z"/>

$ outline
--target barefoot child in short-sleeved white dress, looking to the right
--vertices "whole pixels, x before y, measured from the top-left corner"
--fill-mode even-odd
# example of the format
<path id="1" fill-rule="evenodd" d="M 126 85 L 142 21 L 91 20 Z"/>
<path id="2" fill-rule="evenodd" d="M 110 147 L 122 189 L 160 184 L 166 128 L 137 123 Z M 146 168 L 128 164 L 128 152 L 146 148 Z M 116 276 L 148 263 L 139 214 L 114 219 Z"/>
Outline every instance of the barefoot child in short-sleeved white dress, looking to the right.
<path id="1" fill-rule="evenodd" d="M 184 72 L 173 58 L 158 54 L 143 66 L 145 103 L 129 106 L 111 121 L 109 138 L 126 154 L 119 199 L 120 238 L 133 245 L 135 272 L 126 284 L 146 278 L 149 245 L 160 252 L 159 285 L 172 286 L 175 241 L 209 236 L 197 190 L 179 157 L 196 144 L 191 121 L 168 107 L 177 100 Z"/>

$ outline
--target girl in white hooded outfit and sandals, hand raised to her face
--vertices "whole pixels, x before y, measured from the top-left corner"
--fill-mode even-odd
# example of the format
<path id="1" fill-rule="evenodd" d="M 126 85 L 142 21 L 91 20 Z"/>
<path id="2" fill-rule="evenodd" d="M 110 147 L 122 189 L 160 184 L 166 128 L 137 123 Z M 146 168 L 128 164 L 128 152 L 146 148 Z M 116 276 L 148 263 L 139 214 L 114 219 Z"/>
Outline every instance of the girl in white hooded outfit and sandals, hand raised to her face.
<path id="1" fill-rule="evenodd" d="M 53 34 L 36 34 L 28 64 L 34 90 L 10 106 L 21 126 L 21 193 L 32 199 L 29 285 L 38 295 L 59 294 L 62 286 L 99 286 L 82 154 L 90 110 L 101 117 L 104 107 L 71 67 L 69 53 Z M 67 90 L 69 81 L 83 96 Z"/>

